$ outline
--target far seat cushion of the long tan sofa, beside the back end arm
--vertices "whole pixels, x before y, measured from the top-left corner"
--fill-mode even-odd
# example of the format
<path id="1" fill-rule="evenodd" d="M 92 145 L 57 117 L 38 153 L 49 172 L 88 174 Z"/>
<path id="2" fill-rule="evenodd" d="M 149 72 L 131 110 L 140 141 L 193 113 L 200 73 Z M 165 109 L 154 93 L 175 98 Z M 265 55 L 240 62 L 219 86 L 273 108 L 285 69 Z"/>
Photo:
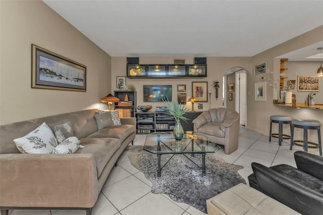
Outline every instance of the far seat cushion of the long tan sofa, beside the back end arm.
<path id="1" fill-rule="evenodd" d="M 136 132 L 135 126 L 120 125 L 120 126 L 111 126 L 109 128 L 101 129 L 87 137 L 95 137 L 95 138 L 112 137 L 112 138 L 120 139 L 120 141 L 123 142 L 130 134 L 134 132 Z"/>

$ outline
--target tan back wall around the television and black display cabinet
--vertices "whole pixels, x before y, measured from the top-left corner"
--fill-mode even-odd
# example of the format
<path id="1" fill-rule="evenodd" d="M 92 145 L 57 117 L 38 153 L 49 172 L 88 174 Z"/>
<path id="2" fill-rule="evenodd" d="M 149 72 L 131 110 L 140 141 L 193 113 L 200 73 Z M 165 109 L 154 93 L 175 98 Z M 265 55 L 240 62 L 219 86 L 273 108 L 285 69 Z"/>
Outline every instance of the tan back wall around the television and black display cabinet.
<path id="1" fill-rule="evenodd" d="M 127 58 L 126 57 L 112 57 L 112 87 L 117 90 L 117 76 L 126 76 L 127 70 Z M 174 59 L 185 59 L 185 64 L 193 64 L 194 57 L 140 57 L 140 64 L 174 64 Z M 206 78 L 168 78 L 168 79 L 126 79 L 126 84 L 133 84 L 137 90 L 137 105 L 151 104 L 154 111 L 156 106 L 165 106 L 163 102 L 143 102 L 143 85 L 172 85 L 173 99 L 177 100 L 177 85 L 186 85 L 186 97 L 187 99 L 192 97 L 192 82 L 207 81 L 208 92 L 211 91 L 211 99 L 208 97 L 208 102 L 203 103 L 202 111 L 206 111 L 211 108 L 222 108 L 222 84 L 223 76 L 226 71 L 233 67 L 242 67 L 246 70 L 252 68 L 252 58 L 222 58 L 222 57 L 208 57 L 207 58 L 207 77 Z M 219 81 L 219 98 L 216 100 L 216 89 L 213 87 L 213 81 Z M 211 102 L 210 102 L 211 101 Z M 194 104 L 194 110 L 198 111 L 197 103 Z M 186 103 L 186 107 L 191 110 L 191 102 Z M 199 110 L 200 111 L 200 110 Z"/>

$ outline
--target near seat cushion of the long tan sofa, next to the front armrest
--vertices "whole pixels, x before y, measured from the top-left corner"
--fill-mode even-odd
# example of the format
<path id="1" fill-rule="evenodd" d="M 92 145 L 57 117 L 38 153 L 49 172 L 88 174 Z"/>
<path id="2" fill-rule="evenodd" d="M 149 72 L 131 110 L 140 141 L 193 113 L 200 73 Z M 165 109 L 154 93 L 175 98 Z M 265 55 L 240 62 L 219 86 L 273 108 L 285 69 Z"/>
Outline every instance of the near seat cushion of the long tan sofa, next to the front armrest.
<path id="1" fill-rule="evenodd" d="M 116 138 L 82 138 L 80 143 L 85 146 L 79 148 L 75 153 L 93 154 L 96 164 L 97 178 L 101 175 L 109 159 L 121 146 L 121 142 Z"/>

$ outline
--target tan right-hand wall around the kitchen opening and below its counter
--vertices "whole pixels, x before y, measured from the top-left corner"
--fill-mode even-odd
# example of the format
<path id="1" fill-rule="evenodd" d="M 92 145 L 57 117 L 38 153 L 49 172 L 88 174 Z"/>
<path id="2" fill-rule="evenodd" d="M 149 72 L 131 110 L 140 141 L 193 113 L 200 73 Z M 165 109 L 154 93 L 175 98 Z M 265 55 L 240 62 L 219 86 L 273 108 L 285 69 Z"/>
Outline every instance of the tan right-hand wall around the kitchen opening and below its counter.
<path id="1" fill-rule="evenodd" d="M 277 56 L 281 56 L 284 53 L 291 52 L 293 50 L 306 47 L 308 45 L 317 43 L 323 38 L 323 26 L 313 29 L 307 33 L 304 33 L 294 39 L 288 40 L 280 45 L 277 45 L 271 49 L 268 49 L 262 53 L 253 57 L 253 66 L 263 62 L 267 62 L 267 69 L 277 75 L 280 73 L 280 59 L 275 59 Z M 317 67 L 318 68 L 318 67 Z M 316 69 L 317 70 L 317 69 Z M 311 73 L 315 75 L 316 70 Z M 249 73 L 249 72 L 248 72 Z M 288 72 L 287 72 L 288 73 Z M 248 74 L 247 79 L 247 128 L 253 131 L 257 131 L 262 134 L 269 134 L 269 119 L 271 115 L 287 115 L 295 119 L 316 119 L 323 123 L 323 110 L 308 110 L 308 109 L 295 109 L 277 106 L 273 104 L 273 88 L 270 87 L 271 74 L 266 73 L 264 75 Z M 267 101 L 254 101 L 254 83 L 260 82 L 260 77 L 265 76 L 267 81 L 266 97 Z M 320 79 L 322 81 L 322 78 Z M 301 99 L 301 98 L 300 98 Z M 275 125 L 277 131 L 277 127 Z M 288 134 L 288 127 L 284 127 L 285 132 Z M 302 139 L 302 130 L 296 129 L 296 138 Z M 284 133 L 285 133 L 284 132 Z M 321 129 L 321 133 L 323 129 Z M 309 139 L 313 142 L 317 142 L 317 131 L 309 131 Z"/>

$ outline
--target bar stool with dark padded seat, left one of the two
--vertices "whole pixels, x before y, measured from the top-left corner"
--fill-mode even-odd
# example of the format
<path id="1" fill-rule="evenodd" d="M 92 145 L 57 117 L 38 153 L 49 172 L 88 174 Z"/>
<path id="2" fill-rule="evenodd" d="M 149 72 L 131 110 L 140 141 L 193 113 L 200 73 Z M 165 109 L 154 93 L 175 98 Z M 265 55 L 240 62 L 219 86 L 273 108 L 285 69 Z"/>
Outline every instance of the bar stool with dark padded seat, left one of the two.
<path id="1" fill-rule="evenodd" d="M 272 134 L 272 125 L 273 123 L 278 123 L 278 134 Z M 271 116 L 271 128 L 269 132 L 269 141 L 272 141 L 272 137 L 279 139 L 279 145 L 282 145 L 283 139 L 291 139 L 291 136 L 287 134 L 283 134 L 283 124 L 289 124 L 290 129 L 292 130 L 292 118 L 289 116 L 281 116 L 281 115 L 272 115 Z"/>

